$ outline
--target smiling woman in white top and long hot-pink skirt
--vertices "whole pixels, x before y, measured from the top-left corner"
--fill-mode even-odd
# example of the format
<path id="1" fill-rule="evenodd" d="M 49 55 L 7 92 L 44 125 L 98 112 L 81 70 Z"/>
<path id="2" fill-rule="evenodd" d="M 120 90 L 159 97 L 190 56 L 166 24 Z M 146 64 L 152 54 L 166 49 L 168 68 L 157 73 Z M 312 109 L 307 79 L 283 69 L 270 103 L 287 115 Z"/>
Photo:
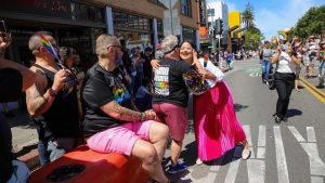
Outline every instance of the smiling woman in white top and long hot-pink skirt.
<path id="1" fill-rule="evenodd" d="M 237 120 L 231 90 L 223 81 L 224 74 L 211 61 L 197 60 L 194 47 L 188 41 L 181 44 L 180 56 L 182 61 L 196 65 L 209 88 L 205 93 L 194 95 L 196 164 L 219 158 L 238 143 L 244 147 L 242 158 L 249 158 L 249 144 Z"/>

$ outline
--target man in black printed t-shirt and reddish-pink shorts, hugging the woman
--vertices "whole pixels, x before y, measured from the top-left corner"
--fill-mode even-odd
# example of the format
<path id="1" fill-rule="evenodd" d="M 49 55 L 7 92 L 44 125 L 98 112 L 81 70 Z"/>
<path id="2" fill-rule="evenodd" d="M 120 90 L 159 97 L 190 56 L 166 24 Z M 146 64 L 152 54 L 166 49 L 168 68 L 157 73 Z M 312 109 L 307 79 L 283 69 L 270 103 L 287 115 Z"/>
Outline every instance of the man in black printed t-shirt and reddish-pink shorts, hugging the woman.
<path id="1" fill-rule="evenodd" d="M 158 60 L 159 67 L 154 70 L 153 108 L 158 120 L 170 129 L 171 165 L 167 171 L 171 174 L 187 169 L 184 162 L 179 161 L 179 157 L 188 122 L 186 108 L 188 92 L 182 76 L 191 70 L 191 65 L 180 61 L 179 49 L 176 36 L 165 37 L 160 48 L 164 57 Z"/>

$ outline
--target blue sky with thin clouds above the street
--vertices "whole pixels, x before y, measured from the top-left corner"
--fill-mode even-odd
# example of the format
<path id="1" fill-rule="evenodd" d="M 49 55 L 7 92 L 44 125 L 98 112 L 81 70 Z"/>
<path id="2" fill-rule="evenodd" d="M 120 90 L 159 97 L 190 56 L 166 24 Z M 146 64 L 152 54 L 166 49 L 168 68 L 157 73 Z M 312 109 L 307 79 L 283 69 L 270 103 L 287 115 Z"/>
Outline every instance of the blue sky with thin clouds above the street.
<path id="1" fill-rule="evenodd" d="M 216 2 L 221 0 L 207 0 Z M 311 8 L 325 4 L 324 0 L 222 0 L 229 11 L 245 10 L 247 2 L 253 6 L 255 24 L 266 39 L 277 30 L 295 26 L 298 19 Z"/>

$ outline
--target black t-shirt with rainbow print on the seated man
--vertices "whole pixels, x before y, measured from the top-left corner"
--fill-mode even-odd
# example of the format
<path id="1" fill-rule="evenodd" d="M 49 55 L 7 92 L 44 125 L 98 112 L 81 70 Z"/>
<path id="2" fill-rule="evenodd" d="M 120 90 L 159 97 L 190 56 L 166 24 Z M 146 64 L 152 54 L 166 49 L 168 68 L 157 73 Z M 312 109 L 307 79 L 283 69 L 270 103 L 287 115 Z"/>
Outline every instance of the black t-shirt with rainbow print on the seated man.
<path id="1" fill-rule="evenodd" d="M 126 122 L 106 115 L 100 108 L 101 106 L 116 101 L 123 107 L 133 108 L 127 81 L 119 67 L 113 71 L 107 71 L 99 64 L 94 64 L 84 77 L 81 97 L 84 110 L 82 125 L 84 138 Z"/>

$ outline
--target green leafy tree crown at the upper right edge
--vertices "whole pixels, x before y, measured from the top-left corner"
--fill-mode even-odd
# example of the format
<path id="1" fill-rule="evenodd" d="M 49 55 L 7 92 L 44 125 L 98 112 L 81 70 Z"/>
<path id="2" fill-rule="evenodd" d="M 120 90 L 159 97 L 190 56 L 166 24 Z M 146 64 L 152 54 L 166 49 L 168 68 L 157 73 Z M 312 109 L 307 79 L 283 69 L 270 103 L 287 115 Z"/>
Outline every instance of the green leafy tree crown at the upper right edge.
<path id="1" fill-rule="evenodd" d="M 310 35 L 325 34 L 325 5 L 311 8 L 298 21 L 292 29 L 292 35 L 306 39 Z"/>

